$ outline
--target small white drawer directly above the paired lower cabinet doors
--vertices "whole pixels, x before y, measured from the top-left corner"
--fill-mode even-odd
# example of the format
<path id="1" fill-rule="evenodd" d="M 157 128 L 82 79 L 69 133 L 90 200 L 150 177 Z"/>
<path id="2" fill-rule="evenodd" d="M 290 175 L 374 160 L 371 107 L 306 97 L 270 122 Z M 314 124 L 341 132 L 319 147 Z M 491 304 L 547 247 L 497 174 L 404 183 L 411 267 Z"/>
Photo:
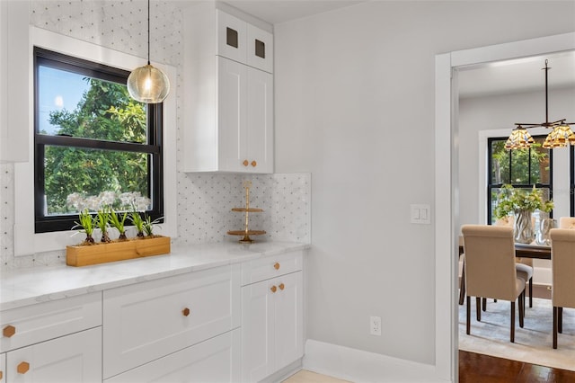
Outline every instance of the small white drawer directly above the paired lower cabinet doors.
<path id="1" fill-rule="evenodd" d="M 302 270 L 301 251 L 270 255 L 242 264 L 242 286 Z"/>

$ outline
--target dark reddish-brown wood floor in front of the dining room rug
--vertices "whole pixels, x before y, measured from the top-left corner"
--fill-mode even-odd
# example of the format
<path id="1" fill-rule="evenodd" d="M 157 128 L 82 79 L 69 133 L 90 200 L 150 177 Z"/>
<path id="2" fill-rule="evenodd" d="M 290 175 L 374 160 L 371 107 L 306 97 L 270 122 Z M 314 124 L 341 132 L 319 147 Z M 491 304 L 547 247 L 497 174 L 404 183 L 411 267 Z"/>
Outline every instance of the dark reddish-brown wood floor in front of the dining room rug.
<path id="1" fill-rule="evenodd" d="M 575 361 L 574 361 L 575 363 Z M 459 383 L 575 382 L 575 371 L 459 351 Z"/>

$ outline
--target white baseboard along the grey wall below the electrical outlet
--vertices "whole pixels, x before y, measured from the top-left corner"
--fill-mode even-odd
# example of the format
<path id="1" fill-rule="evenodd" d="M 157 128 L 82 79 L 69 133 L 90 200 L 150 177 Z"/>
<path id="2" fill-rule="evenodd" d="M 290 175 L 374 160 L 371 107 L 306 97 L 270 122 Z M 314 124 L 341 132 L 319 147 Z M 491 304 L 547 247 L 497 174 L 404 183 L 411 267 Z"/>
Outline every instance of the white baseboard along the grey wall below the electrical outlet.
<path id="1" fill-rule="evenodd" d="M 352 382 L 446 382 L 435 366 L 308 339 L 304 370 Z"/>

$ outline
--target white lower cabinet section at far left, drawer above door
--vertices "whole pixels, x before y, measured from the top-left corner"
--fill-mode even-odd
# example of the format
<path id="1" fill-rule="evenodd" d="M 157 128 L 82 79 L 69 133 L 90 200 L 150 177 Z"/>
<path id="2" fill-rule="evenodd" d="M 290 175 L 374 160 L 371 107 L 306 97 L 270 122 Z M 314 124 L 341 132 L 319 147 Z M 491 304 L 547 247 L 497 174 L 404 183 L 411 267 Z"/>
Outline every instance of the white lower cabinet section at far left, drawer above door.
<path id="1" fill-rule="evenodd" d="M 102 292 L 4 310 L 0 327 L 0 381 L 102 382 Z"/>

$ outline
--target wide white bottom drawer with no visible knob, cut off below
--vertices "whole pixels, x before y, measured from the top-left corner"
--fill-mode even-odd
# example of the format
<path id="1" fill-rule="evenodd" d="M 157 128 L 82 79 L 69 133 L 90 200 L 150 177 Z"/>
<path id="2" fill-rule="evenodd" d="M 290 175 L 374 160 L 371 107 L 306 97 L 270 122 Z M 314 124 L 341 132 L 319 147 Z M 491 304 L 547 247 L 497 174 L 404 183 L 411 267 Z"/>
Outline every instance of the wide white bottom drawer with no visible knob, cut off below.
<path id="1" fill-rule="evenodd" d="M 104 382 L 232 383 L 240 381 L 240 371 L 240 329 L 237 328 Z"/>

